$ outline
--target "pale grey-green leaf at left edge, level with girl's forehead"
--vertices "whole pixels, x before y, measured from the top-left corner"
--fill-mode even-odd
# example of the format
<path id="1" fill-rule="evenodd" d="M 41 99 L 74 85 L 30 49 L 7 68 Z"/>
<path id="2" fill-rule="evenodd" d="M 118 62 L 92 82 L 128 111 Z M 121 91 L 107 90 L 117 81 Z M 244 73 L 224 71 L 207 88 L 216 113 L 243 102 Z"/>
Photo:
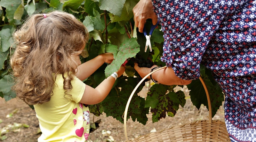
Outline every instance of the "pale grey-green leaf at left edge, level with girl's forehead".
<path id="1" fill-rule="evenodd" d="M 3 52 L 7 51 L 11 46 L 12 41 L 12 29 L 5 28 L 0 31 L 1 37 L 1 50 Z"/>

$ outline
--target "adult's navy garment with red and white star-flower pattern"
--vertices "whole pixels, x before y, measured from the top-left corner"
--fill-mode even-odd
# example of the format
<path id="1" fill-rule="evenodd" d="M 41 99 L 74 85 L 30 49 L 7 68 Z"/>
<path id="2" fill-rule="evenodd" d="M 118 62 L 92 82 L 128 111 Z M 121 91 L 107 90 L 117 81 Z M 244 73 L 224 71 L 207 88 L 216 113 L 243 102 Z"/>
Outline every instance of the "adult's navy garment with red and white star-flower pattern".
<path id="1" fill-rule="evenodd" d="M 256 142 L 256 1 L 152 0 L 164 32 L 161 60 L 182 79 L 212 70 L 225 93 L 231 141 Z"/>

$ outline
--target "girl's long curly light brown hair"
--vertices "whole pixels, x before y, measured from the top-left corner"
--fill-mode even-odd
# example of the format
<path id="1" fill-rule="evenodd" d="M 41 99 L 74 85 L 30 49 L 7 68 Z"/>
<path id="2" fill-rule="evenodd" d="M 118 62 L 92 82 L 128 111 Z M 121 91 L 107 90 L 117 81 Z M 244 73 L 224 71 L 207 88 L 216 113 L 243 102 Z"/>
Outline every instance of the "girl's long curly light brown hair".
<path id="1" fill-rule="evenodd" d="M 62 74 L 67 94 L 76 70 L 71 56 L 81 52 L 88 38 L 83 23 L 67 12 L 30 16 L 13 33 L 16 47 L 10 64 L 17 97 L 29 105 L 50 101 L 57 74 Z"/>

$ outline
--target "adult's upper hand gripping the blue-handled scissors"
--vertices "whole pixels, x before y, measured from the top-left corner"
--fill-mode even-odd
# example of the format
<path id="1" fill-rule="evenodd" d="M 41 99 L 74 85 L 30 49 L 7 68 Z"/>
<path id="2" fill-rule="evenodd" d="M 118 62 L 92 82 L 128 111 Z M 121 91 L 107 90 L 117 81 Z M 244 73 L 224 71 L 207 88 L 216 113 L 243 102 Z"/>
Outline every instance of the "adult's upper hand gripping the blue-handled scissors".
<path id="1" fill-rule="evenodd" d="M 133 11 L 133 19 L 135 22 L 135 26 L 139 28 L 139 32 L 143 32 L 144 24 L 147 19 L 152 19 L 152 24 L 156 25 L 157 16 L 154 12 L 153 4 L 151 0 L 140 0 L 138 4 L 134 6 Z"/>

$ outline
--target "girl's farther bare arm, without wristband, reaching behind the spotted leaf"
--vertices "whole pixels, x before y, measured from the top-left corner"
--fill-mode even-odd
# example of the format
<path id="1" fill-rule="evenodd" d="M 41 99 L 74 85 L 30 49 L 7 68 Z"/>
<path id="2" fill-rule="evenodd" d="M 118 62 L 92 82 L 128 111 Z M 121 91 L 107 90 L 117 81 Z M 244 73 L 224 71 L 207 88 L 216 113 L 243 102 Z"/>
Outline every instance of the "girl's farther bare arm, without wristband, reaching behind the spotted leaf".
<path id="1" fill-rule="evenodd" d="M 94 71 L 96 71 L 104 63 L 112 63 L 114 56 L 112 53 L 103 53 L 95 58 L 79 65 L 76 71 L 76 77 L 80 80 L 88 78 Z"/>

